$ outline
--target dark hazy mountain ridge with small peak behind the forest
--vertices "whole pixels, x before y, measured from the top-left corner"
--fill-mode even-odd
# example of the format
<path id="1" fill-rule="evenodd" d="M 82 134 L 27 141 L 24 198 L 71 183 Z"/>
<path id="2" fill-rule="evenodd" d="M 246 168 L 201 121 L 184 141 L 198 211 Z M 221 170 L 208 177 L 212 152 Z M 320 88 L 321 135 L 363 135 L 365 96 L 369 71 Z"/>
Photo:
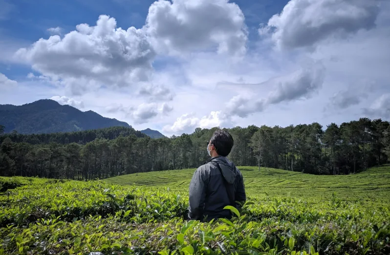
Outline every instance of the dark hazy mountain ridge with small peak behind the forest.
<path id="1" fill-rule="evenodd" d="M 22 106 L 0 105 L 0 125 L 4 132 L 14 130 L 21 134 L 72 132 L 106 127 L 131 127 L 117 119 L 110 119 L 94 111 L 81 111 L 68 105 L 60 105 L 50 99 L 38 100 Z M 144 130 L 146 135 L 163 136 L 155 130 Z"/>

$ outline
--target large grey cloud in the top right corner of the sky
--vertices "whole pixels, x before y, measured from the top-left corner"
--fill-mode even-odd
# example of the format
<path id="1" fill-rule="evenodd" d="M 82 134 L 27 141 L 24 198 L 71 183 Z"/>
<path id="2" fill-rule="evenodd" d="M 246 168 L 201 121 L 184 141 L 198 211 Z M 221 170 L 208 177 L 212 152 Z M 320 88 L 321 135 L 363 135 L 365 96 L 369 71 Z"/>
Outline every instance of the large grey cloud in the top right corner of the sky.
<path id="1" fill-rule="evenodd" d="M 279 48 L 315 46 L 375 27 L 379 0 L 290 0 L 259 29 Z"/>

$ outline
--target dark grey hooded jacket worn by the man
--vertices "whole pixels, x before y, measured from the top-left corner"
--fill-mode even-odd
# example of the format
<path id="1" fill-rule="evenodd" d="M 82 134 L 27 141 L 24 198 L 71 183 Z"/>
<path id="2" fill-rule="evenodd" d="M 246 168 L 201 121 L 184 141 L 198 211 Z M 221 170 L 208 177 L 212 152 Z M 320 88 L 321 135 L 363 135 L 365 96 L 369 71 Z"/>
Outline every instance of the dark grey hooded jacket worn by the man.
<path id="1" fill-rule="evenodd" d="M 219 164 L 221 171 L 217 168 Z M 207 221 L 213 218 L 230 218 L 229 210 L 223 210 L 230 205 L 229 195 L 223 178 L 229 185 L 234 201 L 246 201 L 244 182 L 241 172 L 226 157 L 213 157 L 200 166 L 194 173 L 190 183 L 189 218 Z M 236 203 L 236 208 L 239 209 Z"/>

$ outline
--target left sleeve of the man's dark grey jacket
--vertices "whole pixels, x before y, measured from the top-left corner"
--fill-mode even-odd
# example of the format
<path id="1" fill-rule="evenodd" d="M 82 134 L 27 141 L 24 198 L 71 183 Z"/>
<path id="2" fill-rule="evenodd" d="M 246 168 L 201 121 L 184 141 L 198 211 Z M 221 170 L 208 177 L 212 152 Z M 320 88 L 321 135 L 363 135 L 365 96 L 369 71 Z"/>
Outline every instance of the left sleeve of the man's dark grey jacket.
<path id="1" fill-rule="evenodd" d="M 190 219 L 201 220 L 203 216 L 204 201 L 209 184 L 209 172 L 204 166 L 199 167 L 190 183 L 189 213 Z"/>

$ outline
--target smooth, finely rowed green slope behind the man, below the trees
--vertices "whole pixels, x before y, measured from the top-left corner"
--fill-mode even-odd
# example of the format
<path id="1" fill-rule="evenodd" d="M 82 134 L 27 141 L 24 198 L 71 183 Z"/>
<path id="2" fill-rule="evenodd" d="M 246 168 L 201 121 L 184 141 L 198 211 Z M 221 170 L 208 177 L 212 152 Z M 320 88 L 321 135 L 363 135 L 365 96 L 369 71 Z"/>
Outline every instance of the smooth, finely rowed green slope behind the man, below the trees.
<path id="1" fill-rule="evenodd" d="M 390 201 L 390 165 L 371 168 L 350 175 L 313 175 L 287 170 L 238 167 L 244 177 L 245 189 L 251 196 L 285 195 L 295 197 L 332 196 L 336 192 L 346 199 L 375 196 Z M 105 179 L 118 185 L 169 187 L 188 191 L 195 169 L 168 170 L 128 174 Z"/>

